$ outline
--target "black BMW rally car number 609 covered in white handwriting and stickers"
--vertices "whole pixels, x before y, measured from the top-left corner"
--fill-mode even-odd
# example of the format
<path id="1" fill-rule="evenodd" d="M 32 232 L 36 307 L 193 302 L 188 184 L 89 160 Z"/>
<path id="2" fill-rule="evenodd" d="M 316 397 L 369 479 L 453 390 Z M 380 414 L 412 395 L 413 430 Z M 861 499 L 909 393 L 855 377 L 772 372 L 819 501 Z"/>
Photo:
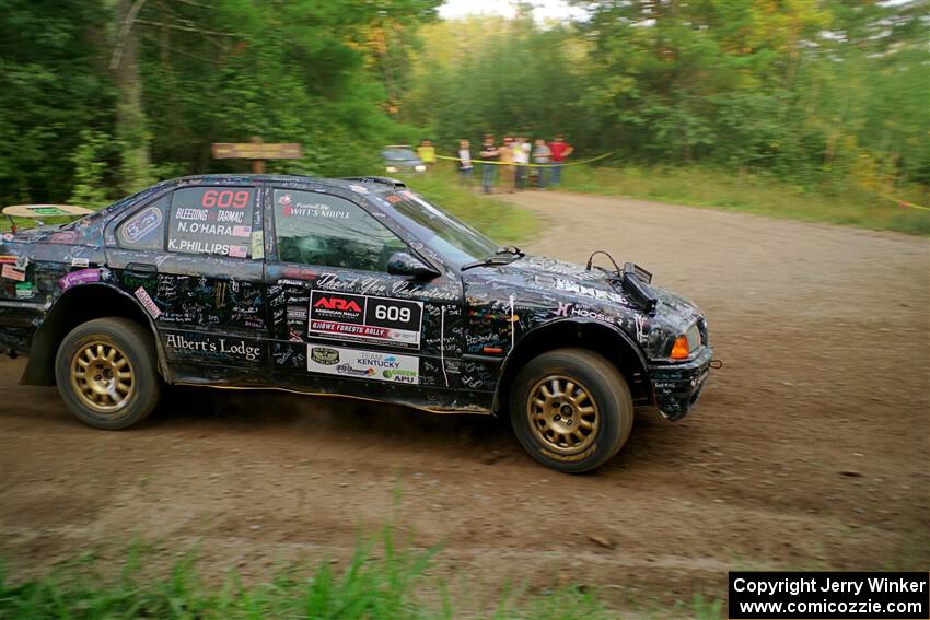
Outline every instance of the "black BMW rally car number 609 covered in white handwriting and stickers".
<path id="1" fill-rule="evenodd" d="M 101 429 L 162 384 L 281 387 L 508 412 L 534 458 L 584 471 L 635 406 L 685 416 L 712 355 L 693 304 L 592 258 L 501 248 L 393 179 L 187 177 L 4 234 L 0 349 Z"/>

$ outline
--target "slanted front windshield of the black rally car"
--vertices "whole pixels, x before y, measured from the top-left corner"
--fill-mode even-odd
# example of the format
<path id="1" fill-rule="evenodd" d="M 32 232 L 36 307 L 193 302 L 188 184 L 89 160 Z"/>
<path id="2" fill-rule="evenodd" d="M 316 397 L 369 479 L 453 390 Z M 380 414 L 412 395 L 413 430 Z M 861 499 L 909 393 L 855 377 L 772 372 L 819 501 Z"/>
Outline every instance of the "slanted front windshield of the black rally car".
<path id="1" fill-rule="evenodd" d="M 387 211 L 453 267 L 492 256 L 498 244 L 412 191 L 387 196 Z"/>

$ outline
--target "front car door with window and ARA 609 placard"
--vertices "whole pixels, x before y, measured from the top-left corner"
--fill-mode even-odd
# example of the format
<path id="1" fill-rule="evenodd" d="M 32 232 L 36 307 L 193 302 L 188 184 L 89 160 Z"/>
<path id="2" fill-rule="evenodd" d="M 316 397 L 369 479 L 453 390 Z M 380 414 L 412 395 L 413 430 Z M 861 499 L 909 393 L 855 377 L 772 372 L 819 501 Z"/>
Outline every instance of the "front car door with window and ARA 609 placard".
<path id="1" fill-rule="evenodd" d="M 314 391 L 420 406 L 453 399 L 461 280 L 441 266 L 427 280 L 390 274 L 396 253 L 427 261 L 364 194 L 279 186 L 268 200 L 274 367 Z"/>

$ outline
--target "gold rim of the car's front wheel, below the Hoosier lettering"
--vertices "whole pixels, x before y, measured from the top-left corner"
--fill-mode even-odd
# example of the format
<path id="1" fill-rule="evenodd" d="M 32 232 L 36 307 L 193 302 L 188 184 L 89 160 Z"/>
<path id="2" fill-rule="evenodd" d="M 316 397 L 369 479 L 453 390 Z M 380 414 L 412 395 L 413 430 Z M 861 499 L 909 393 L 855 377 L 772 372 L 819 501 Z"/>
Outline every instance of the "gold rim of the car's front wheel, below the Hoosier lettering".
<path id="1" fill-rule="evenodd" d="M 562 455 L 591 447 L 601 423 L 597 403 L 588 388 L 562 375 L 547 376 L 533 386 L 526 416 L 536 438 Z"/>

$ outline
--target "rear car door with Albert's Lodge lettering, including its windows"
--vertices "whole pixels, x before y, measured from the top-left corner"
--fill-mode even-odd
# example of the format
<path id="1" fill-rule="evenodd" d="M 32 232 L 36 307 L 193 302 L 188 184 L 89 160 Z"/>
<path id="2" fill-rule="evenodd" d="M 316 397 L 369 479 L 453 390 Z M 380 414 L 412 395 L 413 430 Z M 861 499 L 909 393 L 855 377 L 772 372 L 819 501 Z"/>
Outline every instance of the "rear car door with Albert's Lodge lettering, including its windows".
<path id="1" fill-rule="evenodd" d="M 107 262 L 159 330 L 174 381 L 255 383 L 267 364 L 263 187 L 174 188 L 107 230 Z"/>

